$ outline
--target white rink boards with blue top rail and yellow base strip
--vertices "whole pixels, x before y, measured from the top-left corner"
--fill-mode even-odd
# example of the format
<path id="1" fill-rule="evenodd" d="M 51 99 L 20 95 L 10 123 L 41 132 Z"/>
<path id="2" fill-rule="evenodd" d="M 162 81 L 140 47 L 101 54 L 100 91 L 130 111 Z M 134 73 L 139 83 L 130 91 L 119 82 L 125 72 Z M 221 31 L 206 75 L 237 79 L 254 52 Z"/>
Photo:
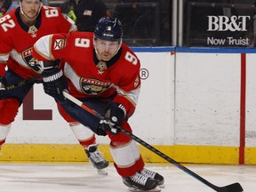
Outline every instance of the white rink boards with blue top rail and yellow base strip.
<path id="1" fill-rule="evenodd" d="M 179 162 L 256 163 L 254 49 L 134 48 L 141 62 L 133 133 Z M 36 84 L 3 147 L 4 161 L 87 161 L 58 113 Z M 108 138 L 100 149 L 112 160 Z M 164 162 L 141 147 L 146 162 Z"/>

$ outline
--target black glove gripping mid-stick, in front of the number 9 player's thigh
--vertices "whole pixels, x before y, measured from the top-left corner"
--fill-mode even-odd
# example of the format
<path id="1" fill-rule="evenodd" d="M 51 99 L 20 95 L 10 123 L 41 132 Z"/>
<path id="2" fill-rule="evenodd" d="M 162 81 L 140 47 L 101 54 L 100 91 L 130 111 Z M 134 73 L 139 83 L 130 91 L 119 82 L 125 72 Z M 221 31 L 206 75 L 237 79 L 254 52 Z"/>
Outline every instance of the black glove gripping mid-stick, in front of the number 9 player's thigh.
<path id="1" fill-rule="evenodd" d="M 117 134 L 120 132 L 119 127 L 123 124 L 126 110 L 120 103 L 112 102 L 106 108 L 106 120 L 100 121 L 100 128 L 106 132 Z"/>

